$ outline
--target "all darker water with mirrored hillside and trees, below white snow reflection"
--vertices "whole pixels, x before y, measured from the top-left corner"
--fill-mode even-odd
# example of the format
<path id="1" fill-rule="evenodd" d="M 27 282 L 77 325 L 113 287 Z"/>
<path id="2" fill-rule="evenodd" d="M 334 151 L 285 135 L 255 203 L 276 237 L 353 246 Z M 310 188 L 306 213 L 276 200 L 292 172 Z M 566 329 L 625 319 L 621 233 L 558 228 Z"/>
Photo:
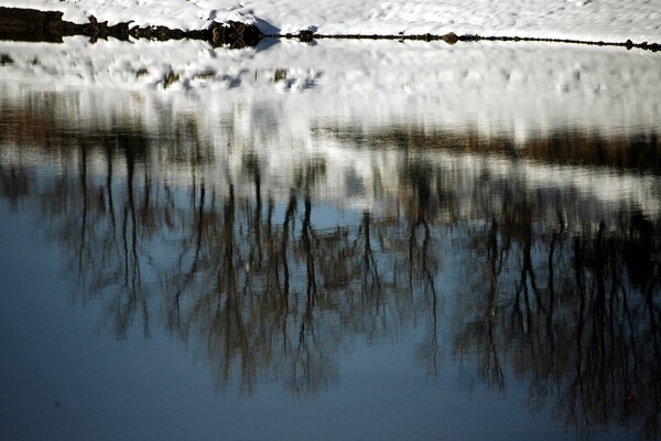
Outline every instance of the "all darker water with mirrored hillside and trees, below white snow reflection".
<path id="1" fill-rule="evenodd" d="M 658 127 L 82 101 L 0 101 L 0 439 L 660 438 Z"/>

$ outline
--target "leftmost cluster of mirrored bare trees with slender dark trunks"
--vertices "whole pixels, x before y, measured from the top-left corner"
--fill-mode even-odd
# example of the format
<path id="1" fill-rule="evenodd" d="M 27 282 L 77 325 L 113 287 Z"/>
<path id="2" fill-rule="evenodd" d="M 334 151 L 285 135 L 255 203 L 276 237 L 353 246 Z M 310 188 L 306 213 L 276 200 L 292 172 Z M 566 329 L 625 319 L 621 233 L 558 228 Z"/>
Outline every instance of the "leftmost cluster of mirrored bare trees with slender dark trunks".
<path id="1" fill-rule="evenodd" d="M 95 147 L 98 140 L 94 140 Z M 108 308 L 119 337 L 126 337 L 136 314 L 140 314 L 145 334 L 149 334 L 149 311 L 145 291 L 141 287 L 141 236 L 149 236 L 153 225 L 150 201 L 150 178 L 141 154 L 144 140 L 140 137 L 104 137 L 106 176 L 98 180 L 89 172 L 91 141 L 83 140 L 69 154 L 77 162 L 55 179 L 50 190 L 41 195 L 42 207 L 53 216 L 53 235 L 63 238 L 72 252 L 68 262 L 77 275 L 79 287 L 94 292 L 112 289 Z M 115 182 L 115 155 L 121 152 L 124 164 L 124 185 Z M 143 181 L 137 185 L 139 172 Z M 118 281 L 121 284 L 118 287 Z"/>

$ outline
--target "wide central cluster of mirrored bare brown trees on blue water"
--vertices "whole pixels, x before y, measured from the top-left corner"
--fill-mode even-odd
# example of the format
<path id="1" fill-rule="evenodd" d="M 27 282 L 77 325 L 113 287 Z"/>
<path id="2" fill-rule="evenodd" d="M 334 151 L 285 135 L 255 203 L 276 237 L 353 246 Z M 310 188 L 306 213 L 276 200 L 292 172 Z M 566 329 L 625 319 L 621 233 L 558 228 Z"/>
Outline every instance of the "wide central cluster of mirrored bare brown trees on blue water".
<path id="1" fill-rule="evenodd" d="M 137 187 L 129 171 L 127 222 L 122 224 L 127 227 L 119 234 L 116 248 L 136 250 L 121 255 L 124 266 L 133 257 L 151 259 L 150 248 L 155 244 L 169 243 L 177 250 L 175 259 L 156 268 L 165 323 L 183 341 L 194 342 L 213 366 L 218 387 L 238 379 L 242 391 L 250 394 L 258 378 L 268 377 L 282 380 L 294 394 L 316 392 L 338 375 L 335 355 L 345 329 L 372 336 L 389 332 L 388 292 L 380 280 L 383 249 L 372 244 L 376 233 L 369 213 L 354 230 L 314 227 L 308 189 L 323 173 L 318 163 L 300 170 L 299 189 L 292 189 L 289 201 L 280 207 L 280 223 L 275 219 L 280 208 L 273 198 L 267 194 L 267 206 L 262 203 L 256 157 L 246 158 L 245 170 L 254 189 L 251 198 L 237 196 L 234 184 L 220 194 L 196 176 L 189 196 L 184 198 L 170 187 L 159 190 L 147 179 Z M 215 190 L 209 194 L 208 187 Z M 117 190 L 112 192 L 108 191 L 106 198 L 108 205 L 117 206 Z M 140 197 L 131 196 L 139 192 Z M 148 216 L 136 217 L 137 227 L 132 228 L 131 213 L 136 211 L 131 207 L 137 200 L 149 201 L 138 212 L 152 215 L 149 222 Z M 144 234 L 144 228 L 160 237 Z M 173 233 L 174 240 L 169 238 Z M 131 246 L 134 241 L 138 245 Z M 85 267 L 88 275 L 94 273 L 89 266 L 94 265 Z M 153 286 L 141 282 L 141 267 L 136 271 L 130 271 L 130 265 L 128 268 L 124 284 L 129 295 L 132 275 L 137 275 L 140 292 L 153 290 Z M 392 294 L 393 286 L 389 288 Z M 144 300 L 147 323 L 150 301 Z M 356 302 L 359 309 L 354 308 Z M 151 314 L 153 309 L 152 304 Z M 127 324 L 123 318 L 128 314 L 122 310 L 109 312 Z"/>

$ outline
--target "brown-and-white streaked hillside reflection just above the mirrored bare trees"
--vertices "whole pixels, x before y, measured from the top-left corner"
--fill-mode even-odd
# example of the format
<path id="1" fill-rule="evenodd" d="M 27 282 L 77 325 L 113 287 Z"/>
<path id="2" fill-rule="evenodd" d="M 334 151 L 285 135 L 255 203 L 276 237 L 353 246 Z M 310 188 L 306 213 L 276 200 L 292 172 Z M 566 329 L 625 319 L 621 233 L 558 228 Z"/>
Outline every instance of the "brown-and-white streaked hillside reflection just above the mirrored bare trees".
<path id="1" fill-rule="evenodd" d="M 40 155 L 41 150 L 26 147 L 69 148 L 104 137 L 111 146 L 115 141 L 110 138 L 117 136 L 112 133 L 121 132 L 143 138 L 149 147 L 144 161 L 171 182 L 185 183 L 187 163 L 194 160 L 199 165 L 197 173 L 213 175 L 218 191 L 226 192 L 235 183 L 240 195 L 252 193 L 252 183 L 238 185 L 249 157 L 260 164 L 262 185 L 279 202 L 286 200 L 290 187 L 300 187 L 302 180 L 308 179 L 301 164 L 316 164 L 324 173 L 315 178 L 312 197 L 373 213 L 397 209 L 407 187 L 400 182 L 400 170 L 407 166 L 402 158 L 433 164 L 437 176 L 430 181 L 431 187 L 444 191 L 448 186 L 458 196 L 452 213 L 436 208 L 437 215 L 449 218 L 470 216 L 476 208 L 465 201 L 477 181 L 463 179 L 463 174 L 479 175 L 480 180 L 516 175 L 529 189 L 559 191 L 572 225 L 582 217 L 573 209 L 576 205 L 597 217 L 631 206 L 653 216 L 661 209 L 657 127 L 637 127 L 615 136 L 595 128 L 561 128 L 540 131 L 537 137 L 508 138 L 497 129 L 498 135 L 488 137 L 484 128 L 449 126 L 441 130 L 415 120 L 394 126 L 329 123 L 328 118 L 304 116 L 290 120 L 283 118 L 279 101 L 236 100 L 202 109 L 191 108 L 187 101 L 181 106 L 165 101 L 159 107 L 154 97 L 149 97 L 149 105 L 144 96 L 124 98 L 126 106 L 111 106 L 105 116 L 98 108 L 101 103 L 85 95 L 30 93 L 18 101 L 0 104 L 0 137 L 4 143 L 24 146 L 22 154 Z M 89 154 L 96 166 L 96 152 Z M 7 164 L 12 160 L 3 158 Z"/>

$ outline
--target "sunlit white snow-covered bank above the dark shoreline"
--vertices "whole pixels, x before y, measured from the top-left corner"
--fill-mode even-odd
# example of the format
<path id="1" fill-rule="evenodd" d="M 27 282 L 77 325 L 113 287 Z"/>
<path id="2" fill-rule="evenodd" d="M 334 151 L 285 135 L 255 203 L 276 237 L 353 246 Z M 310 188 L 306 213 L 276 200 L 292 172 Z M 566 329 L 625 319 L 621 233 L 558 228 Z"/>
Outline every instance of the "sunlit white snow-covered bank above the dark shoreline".
<path id="1" fill-rule="evenodd" d="M 0 0 L 0 6 L 58 10 L 64 20 L 132 21 L 184 30 L 212 21 L 257 23 L 262 32 L 322 34 L 480 34 L 592 41 L 661 42 L 661 0 Z"/>

